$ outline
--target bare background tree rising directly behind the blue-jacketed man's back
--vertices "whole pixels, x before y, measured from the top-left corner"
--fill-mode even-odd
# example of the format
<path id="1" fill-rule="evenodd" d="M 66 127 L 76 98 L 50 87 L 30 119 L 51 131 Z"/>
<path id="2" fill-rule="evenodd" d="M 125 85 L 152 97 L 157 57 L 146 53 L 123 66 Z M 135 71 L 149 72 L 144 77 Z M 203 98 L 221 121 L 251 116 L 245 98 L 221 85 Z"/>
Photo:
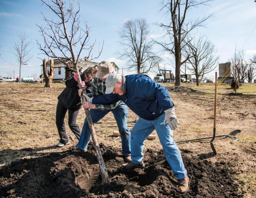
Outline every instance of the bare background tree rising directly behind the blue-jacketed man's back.
<path id="1" fill-rule="evenodd" d="M 129 69 L 137 73 L 147 73 L 156 66 L 160 57 L 152 51 L 154 42 L 150 39 L 150 27 L 146 19 L 135 19 L 124 22 L 120 30 L 120 41 L 123 52 L 120 58 L 127 58 Z"/>

